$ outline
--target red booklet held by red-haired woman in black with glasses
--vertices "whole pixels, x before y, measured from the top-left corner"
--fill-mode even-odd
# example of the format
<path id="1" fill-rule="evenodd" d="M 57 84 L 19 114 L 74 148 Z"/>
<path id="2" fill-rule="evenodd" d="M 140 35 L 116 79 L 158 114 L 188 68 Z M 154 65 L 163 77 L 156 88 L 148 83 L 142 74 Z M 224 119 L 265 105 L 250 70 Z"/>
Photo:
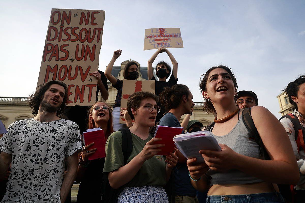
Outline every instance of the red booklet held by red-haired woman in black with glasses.
<path id="1" fill-rule="evenodd" d="M 99 159 L 106 156 L 105 153 L 105 135 L 104 130 L 101 128 L 89 129 L 83 133 L 84 145 L 89 145 L 94 142 L 94 145 L 89 147 L 87 150 L 97 148 L 95 153 L 88 156 L 88 160 Z"/>

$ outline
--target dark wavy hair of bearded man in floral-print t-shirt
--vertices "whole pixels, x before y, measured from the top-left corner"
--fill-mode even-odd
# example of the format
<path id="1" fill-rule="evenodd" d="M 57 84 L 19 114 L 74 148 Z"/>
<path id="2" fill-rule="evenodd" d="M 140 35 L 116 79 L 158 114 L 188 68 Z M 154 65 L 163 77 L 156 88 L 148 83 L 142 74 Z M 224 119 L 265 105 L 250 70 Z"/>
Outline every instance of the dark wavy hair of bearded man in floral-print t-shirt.
<path id="1" fill-rule="evenodd" d="M 40 102 L 41 102 L 45 92 L 53 84 L 63 86 L 63 88 L 65 89 L 65 96 L 63 97 L 63 103 L 60 105 L 59 110 L 57 110 L 57 116 L 63 114 L 63 112 L 66 108 L 66 101 L 68 100 L 67 85 L 61 81 L 51 80 L 49 82 L 45 82 L 45 83 L 39 85 L 36 92 L 34 92 L 29 98 L 27 98 L 27 101 L 29 102 L 29 106 L 32 109 L 32 112 L 34 115 L 38 114 Z"/>

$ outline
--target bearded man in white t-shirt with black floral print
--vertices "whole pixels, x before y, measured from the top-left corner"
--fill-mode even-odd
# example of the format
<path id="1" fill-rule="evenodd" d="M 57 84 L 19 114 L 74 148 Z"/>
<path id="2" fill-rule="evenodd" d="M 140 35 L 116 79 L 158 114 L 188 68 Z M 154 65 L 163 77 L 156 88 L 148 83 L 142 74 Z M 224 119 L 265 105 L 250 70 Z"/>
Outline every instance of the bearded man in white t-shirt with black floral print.
<path id="1" fill-rule="evenodd" d="M 12 123 L 0 139 L 0 177 L 12 163 L 1 203 L 65 202 L 81 150 L 77 124 L 59 117 L 67 97 L 63 82 L 52 80 L 40 85 L 28 100 L 36 116 Z"/>

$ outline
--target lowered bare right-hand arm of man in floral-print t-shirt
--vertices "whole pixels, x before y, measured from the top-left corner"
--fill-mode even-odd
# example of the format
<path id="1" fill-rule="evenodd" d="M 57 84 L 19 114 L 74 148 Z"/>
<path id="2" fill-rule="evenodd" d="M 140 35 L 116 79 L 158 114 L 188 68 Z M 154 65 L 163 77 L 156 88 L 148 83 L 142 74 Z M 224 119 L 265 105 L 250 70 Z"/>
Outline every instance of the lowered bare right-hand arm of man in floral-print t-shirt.
<path id="1" fill-rule="evenodd" d="M 67 172 L 60 188 L 60 201 L 65 202 L 77 173 L 77 152 L 67 157 Z"/>

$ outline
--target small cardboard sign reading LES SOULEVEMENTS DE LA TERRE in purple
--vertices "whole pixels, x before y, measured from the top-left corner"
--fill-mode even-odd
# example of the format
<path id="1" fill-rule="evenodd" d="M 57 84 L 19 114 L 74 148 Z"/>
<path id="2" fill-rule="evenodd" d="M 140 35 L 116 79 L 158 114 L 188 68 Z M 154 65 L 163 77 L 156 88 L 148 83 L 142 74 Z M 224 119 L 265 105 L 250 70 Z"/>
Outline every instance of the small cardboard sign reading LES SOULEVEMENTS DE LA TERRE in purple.
<path id="1" fill-rule="evenodd" d="M 183 48 L 180 28 L 145 29 L 144 50 L 165 48 Z"/>

